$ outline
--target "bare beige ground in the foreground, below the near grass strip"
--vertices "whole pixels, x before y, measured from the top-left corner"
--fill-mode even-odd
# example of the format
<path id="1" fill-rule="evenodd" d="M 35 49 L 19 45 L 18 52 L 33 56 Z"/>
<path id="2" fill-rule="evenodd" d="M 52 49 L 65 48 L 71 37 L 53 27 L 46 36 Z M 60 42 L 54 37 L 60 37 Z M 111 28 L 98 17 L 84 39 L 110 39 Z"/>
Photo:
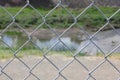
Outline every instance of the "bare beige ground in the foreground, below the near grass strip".
<path id="1" fill-rule="evenodd" d="M 55 68 L 48 60 L 51 60 L 57 67 Z M 89 72 L 93 71 L 91 75 L 96 80 L 120 80 L 120 60 L 109 59 L 109 61 L 117 68 L 115 69 L 108 61 L 104 62 L 104 58 L 88 56 L 88 57 L 77 57 L 77 60 L 82 62 L 89 71 L 87 71 L 77 60 L 73 57 L 65 57 L 62 55 L 51 55 L 47 58 L 38 56 L 25 56 L 20 58 L 26 66 L 18 59 L 14 59 L 8 64 L 10 60 L 0 60 L 0 66 L 4 69 L 4 73 L 0 73 L 0 80 L 11 80 L 5 74 L 9 75 L 12 80 L 65 80 L 59 74 L 66 77 L 67 80 L 86 80 L 89 77 Z M 42 62 L 40 62 L 42 60 Z M 96 70 L 95 67 L 100 63 L 104 62 Z M 39 63 L 37 65 L 37 63 Z M 69 64 L 70 63 L 70 64 Z M 67 65 L 68 64 L 68 65 Z M 36 67 L 35 67 L 36 65 Z M 27 67 L 29 66 L 29 67 Z M 66 66 L 66 67 L 65 67 Z M 35 67 L 35 68 L 34 68 Z M 30 70 L 31 73 L 30 74 Z M 118 71 L 117 71 L 118 70 Z M 60 72 L 59 72 L 60 71 Z M 37 79 L 34 75 L 36 75 Z M 94 80 L 90 78 L 88 80 Z"/>

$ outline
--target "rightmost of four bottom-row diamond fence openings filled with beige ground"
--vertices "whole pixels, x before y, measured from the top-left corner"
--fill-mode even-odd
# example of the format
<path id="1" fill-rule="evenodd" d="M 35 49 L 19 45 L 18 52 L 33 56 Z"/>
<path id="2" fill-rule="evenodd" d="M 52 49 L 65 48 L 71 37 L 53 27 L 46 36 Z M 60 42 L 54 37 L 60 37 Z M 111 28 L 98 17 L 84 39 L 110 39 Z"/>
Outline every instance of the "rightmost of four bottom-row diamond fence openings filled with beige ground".
<path id="1" fill-rule="evenodd" d="M 111 66 L 108 62 L 103 63 L 100 67 L 98 67 L 92 75 L 96 78 L 96 80 L 117 80 L 119 78 L 119 72 Z M 106 77 L 108 76 L 108 77 Z M 112 76 L 112 77 L 109 77 Z M 106 79 L 104 79 L 106 77 Z"/>

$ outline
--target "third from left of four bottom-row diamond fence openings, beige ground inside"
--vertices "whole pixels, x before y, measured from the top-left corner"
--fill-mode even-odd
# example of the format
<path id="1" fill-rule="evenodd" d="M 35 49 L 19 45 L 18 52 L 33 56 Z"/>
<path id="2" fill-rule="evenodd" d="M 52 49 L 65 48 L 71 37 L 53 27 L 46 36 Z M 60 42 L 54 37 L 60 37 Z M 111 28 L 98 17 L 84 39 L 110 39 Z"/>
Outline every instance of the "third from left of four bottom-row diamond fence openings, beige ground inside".
<path id="1" fill-rule="evenodd" d="M 69 64 L 69 66 L 67 66 L 61 73 L 68 80 L 84 80 L 88 75 L 88 71 L 75 60 Z"/>

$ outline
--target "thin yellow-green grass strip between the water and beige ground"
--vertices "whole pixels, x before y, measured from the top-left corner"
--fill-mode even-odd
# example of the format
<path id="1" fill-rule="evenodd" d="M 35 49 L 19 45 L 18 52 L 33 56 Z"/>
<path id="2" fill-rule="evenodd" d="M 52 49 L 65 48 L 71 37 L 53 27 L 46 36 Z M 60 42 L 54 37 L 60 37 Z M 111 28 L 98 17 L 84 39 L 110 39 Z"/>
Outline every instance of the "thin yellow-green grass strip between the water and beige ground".
<path id="1" fill-rule="evenodd" d="M 51 55 L 63 55 L 65 57 L 73 57 L 72 53 L 70 51 L 49 51 L 47 53 L 47 56 Z M 33 56 L 39 56 L 42 57 L 45 55 L 45 52 L 42 52 L 39 49 L 22 49 L 20 50 L 16 56 L 19 58 L 22 58 L 27 55 L 33 55 Z M 79 53 L 77 57 L 83 57 L 83 56 L 88 56 L 83 53 Z M 12 52 L 10 49 L 0 49 L 0 59 L 10 59 L 13 58 L 14 52 Z M 102 57 L 104 58 L 105 56 L 102 53 L 98 53 L 96 57 Z M 112 55 L 108 56 L 109 59 L 117 59 L 120 60 L 120 53 L 113 53 Z"/>

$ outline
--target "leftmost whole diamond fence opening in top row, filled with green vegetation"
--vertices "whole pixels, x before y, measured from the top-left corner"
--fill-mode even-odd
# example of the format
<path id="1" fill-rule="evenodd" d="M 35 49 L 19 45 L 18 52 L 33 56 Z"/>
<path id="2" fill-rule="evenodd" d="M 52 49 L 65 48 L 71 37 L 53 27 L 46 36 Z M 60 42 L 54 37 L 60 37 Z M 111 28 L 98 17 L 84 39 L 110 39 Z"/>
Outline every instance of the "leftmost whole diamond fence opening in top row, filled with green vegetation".
<path id="1" fill-rule="evenodd" d="M 34 30 L 43 21 L 42 15 L 39 10 L 35 9 L 32 6 L 26 6 L 25 8 L 19 10 L 18 14 L 15 16 L 15 22 L 19 24 L 22 28 L 31 28 L 31 30 Z M 26 31 L 31 30 L 26 29 Z"/>

